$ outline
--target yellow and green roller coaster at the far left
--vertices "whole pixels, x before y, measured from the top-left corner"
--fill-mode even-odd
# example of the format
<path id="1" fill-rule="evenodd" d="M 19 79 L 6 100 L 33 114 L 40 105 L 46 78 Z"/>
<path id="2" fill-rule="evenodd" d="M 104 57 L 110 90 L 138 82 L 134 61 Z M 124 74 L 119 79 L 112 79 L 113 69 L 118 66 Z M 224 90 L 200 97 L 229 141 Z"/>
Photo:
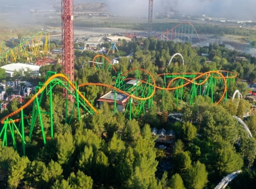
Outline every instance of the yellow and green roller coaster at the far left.
<path id="1" fill-rule="evenodd" d="M 20 40 L 11 38 L 6 41 L 7 48 L 3 50 L 2 44 L 0 47 L 0 61 L 16 62 L 21 57 L 39 57 L 39 53 L 49 53 L 49 33 L 40 31 L 31 37 L 22 37 Z"/>

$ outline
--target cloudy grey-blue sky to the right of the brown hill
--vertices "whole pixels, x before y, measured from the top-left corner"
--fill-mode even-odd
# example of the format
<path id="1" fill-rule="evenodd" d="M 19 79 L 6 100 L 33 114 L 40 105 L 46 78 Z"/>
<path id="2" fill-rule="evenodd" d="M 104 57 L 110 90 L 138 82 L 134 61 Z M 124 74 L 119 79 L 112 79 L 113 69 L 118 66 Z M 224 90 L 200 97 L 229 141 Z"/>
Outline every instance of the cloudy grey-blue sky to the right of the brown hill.
<path id="1" fill-rule="evenodd" d="M 84 1 L 84 0 L 74 0 Z M 90 0 L 92 2 L 92 0 Z M 104 0 L 103 0 L 104 1 Z M 121 15 L 147 16 L 148 0 L 105 0 L 111 11 Z M 256 19 L 256 0 L 154 0 L 153 13 L 179 11 L 189 15 L 209 15 Z"/>

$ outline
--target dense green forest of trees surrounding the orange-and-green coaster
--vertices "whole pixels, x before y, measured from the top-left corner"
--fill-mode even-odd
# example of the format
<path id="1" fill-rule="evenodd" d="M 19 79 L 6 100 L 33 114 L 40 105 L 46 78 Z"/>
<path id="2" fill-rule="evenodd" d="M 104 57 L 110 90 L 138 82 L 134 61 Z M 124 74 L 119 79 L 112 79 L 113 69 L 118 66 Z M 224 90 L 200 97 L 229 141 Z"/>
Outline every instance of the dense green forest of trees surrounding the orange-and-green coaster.
<path id="1" fill-rule="evenodd" d="M 109 44 L 102 46 L 109 48 Z M 47 138 L 43 145 L 39 121 L 35 125 L 32 140 L 26 136 L 26 156 L 22 156 L 21 139 L 17 149 L 0 147 L 1 186 L 4 188 L 214 188 L 224 176 L 233 171 L 242 172 L 229 188 L 254 188 L 256 184 L 255 154 L 256 141 L 248 137 L 233 115 L 243 118 L 252 111 L 253 102 L 235 99 L 232 95 L 239 90 L 243 97 L 256 81 L 256 58 L 224 48 L 224 45 L 210 44 L 208 47 L 191 47 L 190 43 L 134 38 L 131 42 L 120 41 L 119 51 L 108 55 L 109 60 L 121 57 L 115 64 L 117 72 L 132 68 L 142 68 L 156 76 L 160 73 L 207 72 L 228 70 L 237 73 L 236 81 L 229 84 L 228 99 L 215 105 L 207 96 L 197 96 L 193 106 L 183 106 L 177 110 L 170 103 L 173 93 L 164 95 L 156 92 L 153 107 L 138 118 L 129 120 L 122 112 L 114 114 L 113 106 L 103 103 L 100 114 L 84 116 L 77 121 L 77 111 L 72 115 L 70 125 L 65 124 L 65 99 L 63 90 L 56 87 L 53 92 L 54 138 Z M 130 57 L 126 57 L 132 53 Z M 175 53 L 181 57 L 170 58 Z M 201 56 L 209 54 L 208 57 Z M 112 74 L 107 70 L 96 71 L 88 62 L 96 54 L 91 51 L 75 50 L 75 81 L 77 84 L 98 82 L 112 84 Z M 59 64 L 40 68 L 40 78 L 26 77 L 28 81 L 44 82 L 47 71 L 62 73 Z M 3 79 L 3 78 L 2 78 Z M 155 78 L 163 84 L 162 78 Z M 102 86 L 88 86 L 83 90 L 86 98 L 96 105 L 100 94 L 108 91 Z M 214 95 L 220 96 L 221 88 Z M 31 94 L 33 95 L 33 94 Z M 30 97 L 26 99 L 29 100 Z M 43 97 L 41 109 L 48 111 L 49 98 Z M 12 101 L 2 116 L 20 107 Z M 72 107 L 68 107 L 72 109 Z M 24 110 L 31 114 L 32 107 Z M 161 111 L 162 114 L 157 112 Z M 71 111 L 70 111 L 71 112 Z M 181 112 L 182 122 L 171 121 L 168 114 Z M 42 114 L 44 132 L 50 136 L 49 115 Z M 70 114 L 69 114 L 70 116 Z M 252 136 L 256 135 L 256 117 L 249 116 L 245 123 Z M 156 147 L 157 136 L 151 128 L 175 132 L 172 152 L 166 155 L 164 149 Z M 29 127 L 26 127 L 27 131 Z M 25 132 L 26 133 L 26 132 Z M 18 135 L 18 133 L 15 133 Z M 2 142 L 1 142 L 2 143 Z M 170 168 L 161 170 L 161 163 L 168 162 Z M 2 179 L 3 178 L 3 179 Z"/>

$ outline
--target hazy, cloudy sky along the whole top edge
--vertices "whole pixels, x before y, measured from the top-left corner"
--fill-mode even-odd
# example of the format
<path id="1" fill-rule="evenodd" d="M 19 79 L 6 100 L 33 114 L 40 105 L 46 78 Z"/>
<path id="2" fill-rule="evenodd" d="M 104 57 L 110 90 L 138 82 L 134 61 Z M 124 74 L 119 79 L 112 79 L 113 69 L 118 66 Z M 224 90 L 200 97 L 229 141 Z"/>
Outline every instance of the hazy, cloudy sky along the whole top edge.
<path id="1" fill-rule="evenodd" d="M 74 0 L 74 4 L 83 2 L 105 2 L 109 10 L 116 15 L 148 15 L 148 0 Z M 0 0 L 0 11 L 4 5 L 19 6 L 17 14 L 30 7 L 60 5 L 61 0 Z M 256 19 L 256 0 L 153 0 L 153 14 L 164 11 L 179 11 L 186 15 Z"/>

